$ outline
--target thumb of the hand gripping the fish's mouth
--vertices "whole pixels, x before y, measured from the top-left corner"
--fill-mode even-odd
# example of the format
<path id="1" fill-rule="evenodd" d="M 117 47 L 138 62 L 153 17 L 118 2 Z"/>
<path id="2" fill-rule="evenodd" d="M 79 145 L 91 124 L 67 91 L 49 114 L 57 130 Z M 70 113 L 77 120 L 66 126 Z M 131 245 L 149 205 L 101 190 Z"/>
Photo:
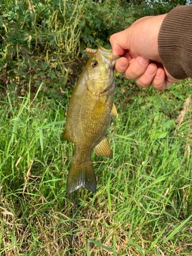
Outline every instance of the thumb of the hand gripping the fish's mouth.
<path id="1" fill-rule="evenodd" d="M 127 28 L 121 32 L 113 34 L 110 37 L 110 43 L 113 49 L 113 55 L 123 55 L 125 50 L 130 50 L 130 29 Z"/>

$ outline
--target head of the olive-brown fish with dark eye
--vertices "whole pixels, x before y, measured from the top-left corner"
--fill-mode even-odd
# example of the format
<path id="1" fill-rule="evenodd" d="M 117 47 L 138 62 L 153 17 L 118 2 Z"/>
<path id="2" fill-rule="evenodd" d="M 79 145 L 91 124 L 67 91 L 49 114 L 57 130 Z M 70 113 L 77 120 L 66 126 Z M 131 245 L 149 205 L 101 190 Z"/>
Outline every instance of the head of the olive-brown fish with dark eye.
<path id="1" fill-rule="evenodd" d="M 98 50 L 86 49 L 92 54 L 87 65 L 88 90 L 93 95 L 106 91 L 114 81 L 114 66 L 120 56 L 114 56 L 112 50 L 99 46 Z"/>

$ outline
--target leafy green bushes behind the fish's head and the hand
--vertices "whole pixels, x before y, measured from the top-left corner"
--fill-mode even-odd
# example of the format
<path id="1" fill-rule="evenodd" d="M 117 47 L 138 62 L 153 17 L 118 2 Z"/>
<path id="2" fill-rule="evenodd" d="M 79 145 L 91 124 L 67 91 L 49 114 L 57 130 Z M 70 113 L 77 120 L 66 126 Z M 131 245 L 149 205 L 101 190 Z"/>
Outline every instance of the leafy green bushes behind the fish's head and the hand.
<path id="1" fill-rule="evenodd" d="M 180 4 L 186 0 L 0 0 L 0 84 L 71 87 L 84 49 L 110 48 L 113 33 Z"/>

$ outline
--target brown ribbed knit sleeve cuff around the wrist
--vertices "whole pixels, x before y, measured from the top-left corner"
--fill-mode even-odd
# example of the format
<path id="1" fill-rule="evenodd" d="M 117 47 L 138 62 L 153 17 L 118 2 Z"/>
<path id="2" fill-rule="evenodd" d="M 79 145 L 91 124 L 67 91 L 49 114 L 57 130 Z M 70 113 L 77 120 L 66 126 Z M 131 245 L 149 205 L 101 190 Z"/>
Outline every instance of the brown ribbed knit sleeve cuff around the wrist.
<path id="1" fill-rule="evenodd" d="M 176 79 L 192 78 L 192 5 L 178 6 L 163 20 L 158 38 L 159 56 Z"/>

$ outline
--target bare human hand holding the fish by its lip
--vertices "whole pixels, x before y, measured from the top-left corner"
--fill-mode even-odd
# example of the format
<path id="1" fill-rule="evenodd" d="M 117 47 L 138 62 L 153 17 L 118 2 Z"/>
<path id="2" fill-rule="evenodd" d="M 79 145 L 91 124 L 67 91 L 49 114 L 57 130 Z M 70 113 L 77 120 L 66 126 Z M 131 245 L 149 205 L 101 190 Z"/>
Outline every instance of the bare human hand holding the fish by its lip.
<path id="1" fill-rule="evenodd" d="M 179 81 L 166 71 L 158 53 L 158 35 L 165 16 L 140 18 L 110 38 L 113 54 L 124 56 L 118 59 L 115 69 L 127 79 L 135 79 L 141 88 L 152 84 L 163 90 Z"/>

